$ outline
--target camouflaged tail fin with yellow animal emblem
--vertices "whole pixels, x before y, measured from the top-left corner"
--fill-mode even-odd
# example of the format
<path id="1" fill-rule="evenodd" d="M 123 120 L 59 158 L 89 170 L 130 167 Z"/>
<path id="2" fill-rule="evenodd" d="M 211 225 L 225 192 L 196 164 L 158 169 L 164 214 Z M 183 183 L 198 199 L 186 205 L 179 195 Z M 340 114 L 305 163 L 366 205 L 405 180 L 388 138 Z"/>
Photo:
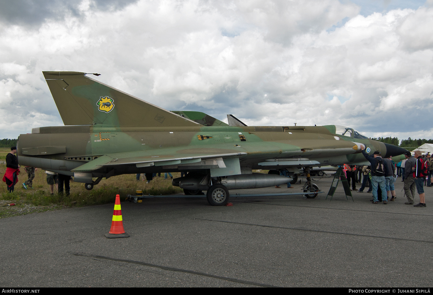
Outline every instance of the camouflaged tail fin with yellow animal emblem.
<path id="1" fill-rule="evenodd" d="M 65 125 L 200 126 L 197 122 L 89 78 L 86 73 L 42 73 Z"/>

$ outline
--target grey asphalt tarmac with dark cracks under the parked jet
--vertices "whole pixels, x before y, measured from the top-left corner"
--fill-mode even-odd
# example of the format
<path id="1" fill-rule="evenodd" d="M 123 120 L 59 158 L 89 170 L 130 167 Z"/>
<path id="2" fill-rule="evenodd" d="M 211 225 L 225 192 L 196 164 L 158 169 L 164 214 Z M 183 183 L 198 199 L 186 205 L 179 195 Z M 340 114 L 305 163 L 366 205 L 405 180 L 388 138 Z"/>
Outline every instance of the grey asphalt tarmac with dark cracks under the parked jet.
<path id="1" fill-rule="evenodd" d="M 328 191 L 332 178 L 317 185 Z M 360 185 L 357 185 L 359 188 Z M 236 192 L 294 192 L 262 188 Z M 107 239 L 113 204 L 0 219 L 3 287 L 431 287 L 433 188 L 427 207 L 333 200 L 205 198 L 122 202 L 129 238 Z M 125 196 L 121 196 L 125 198 Z M 114 198 L 114 196 L 113 196 Z M 415 198 L 415 204 L 419 197 Z"/>

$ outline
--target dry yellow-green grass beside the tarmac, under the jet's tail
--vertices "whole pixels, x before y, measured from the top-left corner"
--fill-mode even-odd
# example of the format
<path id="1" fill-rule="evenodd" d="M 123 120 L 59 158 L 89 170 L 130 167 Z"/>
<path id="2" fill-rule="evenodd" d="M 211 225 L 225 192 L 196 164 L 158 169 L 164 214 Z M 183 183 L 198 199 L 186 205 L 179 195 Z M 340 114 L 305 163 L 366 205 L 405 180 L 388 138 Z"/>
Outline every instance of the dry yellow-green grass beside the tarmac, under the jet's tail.
<path id="1" fill-rule="evenodd" d="M 0 165 L 0 176 L 3 176 L 5 171 L 6 165 Z M 54 187 L 54 194 L 51 195 L 49 185 L 46 182 L 45 170 L 38 169 L 35 172 L 33 188 L 27 190 L 22 185 L 27 180 L 27 173 L 23 167 L 20 168 L 20 171 L 18 175 L 19 181 L 15 185 L 15 190 L 12 194 L 7 191 L 6 183 L 3 182 L 3 185 L 0 185 L 0 206 L 10 203 L 19 204 L 13 207 L 0 207 L 0 218 L 61 209 L 63 207 L 114 203 L 116 195 L 120 195 L 120 201 L 125 201 L 126 195 L 135 195 L 137 189 L 141 189 L 145 195 L 174 195 L 183 193 L 181 188 L 171 185 L 171 178 L 164 179 L 164 173 L 162 173 L 161 177 L 156 176 L 149 184 L 146 184 L 141 179 L 140 181 L 136 181 L 135 174 L 113 176 L 101 180 L 91 191 L 87 191 L 84 188 L 84 183 L 71 181 L 69 196 L 58 195 L 56 187 Z M 174 178 L 180 177 L 180 173 L 172 173 L 172 175 Z M 25 210 L 23 206 L 26 207 Z M 12 215 L 7 213 L 12 211 L 16 212 Z"/>

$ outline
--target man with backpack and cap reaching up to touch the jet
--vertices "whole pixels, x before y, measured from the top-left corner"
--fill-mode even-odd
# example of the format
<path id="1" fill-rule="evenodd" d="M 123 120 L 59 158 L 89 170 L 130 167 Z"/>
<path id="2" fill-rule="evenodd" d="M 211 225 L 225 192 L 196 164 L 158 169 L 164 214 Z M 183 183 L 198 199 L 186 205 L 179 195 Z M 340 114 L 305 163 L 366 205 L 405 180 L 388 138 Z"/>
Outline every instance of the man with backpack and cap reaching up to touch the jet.
<path id="1" fill-rule="evenodd" d="M 378 204 L 378 187 L 381 189 L 382 201 L 384 204 L 388 204 L 386 198 L 386 182 L 385 175 L 388 174 L 388 168 L 385 165 L 379 151 L 373 152 L 373 156 L 368 155 L 365 152 L 365 146 L 361 146 L 362 155 L 365 159 L 372 164 L 372 193 L 373 193 L 373 204 Z"/>

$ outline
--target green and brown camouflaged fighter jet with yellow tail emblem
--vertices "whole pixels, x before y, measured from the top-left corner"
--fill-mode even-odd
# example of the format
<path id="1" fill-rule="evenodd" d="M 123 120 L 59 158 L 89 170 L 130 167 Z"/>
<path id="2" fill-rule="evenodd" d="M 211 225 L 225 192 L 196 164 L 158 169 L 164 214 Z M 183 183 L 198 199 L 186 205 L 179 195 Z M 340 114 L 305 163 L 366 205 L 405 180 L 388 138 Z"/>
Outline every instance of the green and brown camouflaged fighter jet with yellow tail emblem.
<path id="1" fill-rule="evenodd" d="M 88 190 L 114 175 L 188 172 L 173 179 L 173 185 L 189 195 L 207 191 L 207 201 L 221 206 L 229 200 L 229 189 L 288 182 L 278 175 L 281 169 L 308 173 L 315 166 L 362 165 L 362 145 L 368 154 L 378 150 L 392 156 L 405 151 L 350 127 L 246 126 L 233 115 L 229 122 L 235 126 L 229 126 L 205 113 L 164 110 L 87 73 L 43 75 L 65 126 L 21 134 L 19 164 L 74 176 L 74 182 L 84 183 Z M 310 181 L 304 188 L 318 189 Z"/>

